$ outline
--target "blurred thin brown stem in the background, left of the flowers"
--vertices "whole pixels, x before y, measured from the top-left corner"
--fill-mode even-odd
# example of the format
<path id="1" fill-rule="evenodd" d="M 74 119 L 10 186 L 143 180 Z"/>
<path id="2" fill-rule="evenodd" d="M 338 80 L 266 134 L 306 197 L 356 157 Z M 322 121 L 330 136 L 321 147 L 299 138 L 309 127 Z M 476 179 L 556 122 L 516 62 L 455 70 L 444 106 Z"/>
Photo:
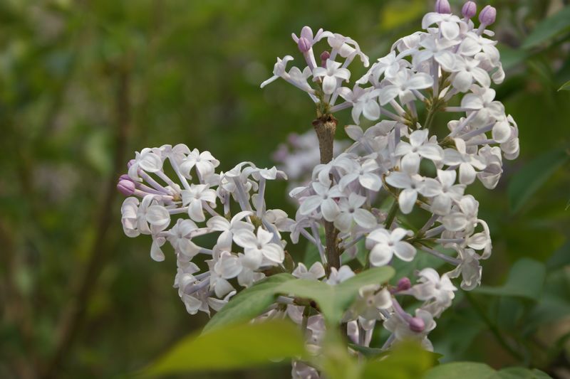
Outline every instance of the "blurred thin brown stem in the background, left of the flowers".
<path id="1" fill-rule="evenodd" d="M 86 269 L 81 277 L 81 282 L 68 303 L 66 309 L 60 319 L 60 332 L 58 333 L 58 342 L 55 352 L 45 366 L 45 370 L 41 378 L 56 378 L 58 371 L 61 370 L 63 358 L 70 350 L 78 334 L 81 330 L 83 321 L 85 321 L 86 309 L 89 304 L 90 297 L 93 295 L 95 283 L 99 277 L 103 264 L 107 258 L 105 254 L 105 240 L 108 233 L 109 225 L 113 221 L 113 204 L 117 194 L 116 181 L 118 176 L 125 169 L 125 149 L 128 141 L 128 132 L 130 129 L 130 77 L 129 70 L 125 66 L 118 67 L 118 85 L 115 97 L 115 117 L 116 117 L 116 134 L 115 134 L 115 156 L 113 161 L 113 174 L 109 178 L 105 198 L 99 209 L 100 214 L 97 222 L 97 231 L 95 240 L 90 250 L 89 261 Z"/>

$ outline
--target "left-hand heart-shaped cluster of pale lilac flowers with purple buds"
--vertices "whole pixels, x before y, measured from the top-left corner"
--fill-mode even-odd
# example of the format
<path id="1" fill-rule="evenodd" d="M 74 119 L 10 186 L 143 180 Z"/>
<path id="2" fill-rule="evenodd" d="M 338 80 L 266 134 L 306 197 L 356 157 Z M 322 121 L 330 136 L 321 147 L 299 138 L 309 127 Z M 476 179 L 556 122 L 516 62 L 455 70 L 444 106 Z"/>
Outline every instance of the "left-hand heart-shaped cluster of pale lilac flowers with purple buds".
<path id="1" fill-rule="evenodd" d="M 166 161 L 177 180 L 165 174 Z M 170 242 L 177 259 L 174 287 L 190 314 L 221 309 L 236 293 L 230 279 L 249 287 L 265 270 L 282 266 L 280 233 L 293 222 L 282 210 L 266 209 L 264 201 L 266 181 L 286 178 L 282 171 L 242 162 L 217 173 L 217 166 L 208 151 L 164 145 L 137 152 L 118 183 L 129 196 L 121 208 L 125 234 L 150 235 L 150 256 L 159 262 L 165 260 L 162 245 Z M 211 233 L 217 235 L 212 248 L 197 245 Z M 209 270 L 199 272 L 192 262 L 197 255 L 207 255 Z"/>

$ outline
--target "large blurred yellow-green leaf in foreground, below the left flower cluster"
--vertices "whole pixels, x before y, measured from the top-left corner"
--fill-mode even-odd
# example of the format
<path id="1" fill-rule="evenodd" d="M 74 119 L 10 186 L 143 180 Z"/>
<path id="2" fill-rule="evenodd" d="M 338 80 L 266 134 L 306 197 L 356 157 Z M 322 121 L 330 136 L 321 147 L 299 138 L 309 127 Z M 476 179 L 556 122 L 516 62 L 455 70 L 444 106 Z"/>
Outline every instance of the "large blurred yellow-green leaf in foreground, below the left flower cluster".
<path id="1" fill-rule="evenodd" d="M 304 354 L 301 332 L 290 322 L 242 324 L 187 336 L 141 374 L 155 377 L 204 370 L 236 370 Z M 289 364 L 289 361 L 283 363 Z"/>

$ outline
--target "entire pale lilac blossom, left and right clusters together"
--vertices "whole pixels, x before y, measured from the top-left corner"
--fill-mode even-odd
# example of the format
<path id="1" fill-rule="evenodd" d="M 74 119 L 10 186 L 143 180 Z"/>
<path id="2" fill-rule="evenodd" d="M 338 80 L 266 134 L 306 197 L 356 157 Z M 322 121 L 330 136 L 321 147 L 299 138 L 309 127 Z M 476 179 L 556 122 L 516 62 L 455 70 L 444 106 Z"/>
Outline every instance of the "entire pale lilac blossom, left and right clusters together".
<path id="1" fill-rule="evenodd" d="M 261 87 L 281 78 L 306 92 L 316 106 L 316 137 L 290 137 L 292 151 L 279 146 L 274 158 L 283 171 L 242 162 L 217 172 L 220 163 L 212 154 L 183 144 L 135 154 L 118 182 L 128 196 L 121 208 L 123 230 L 128 237 L 150 235 L 154 260 L 166 260 L 162 249 L 170 242 L 175 288 L 190 314 L 219 311 L 242 287 L 278 272 L 336 286 L 355 271 L 428 254 L 442 260 L 440 272 L 420 267 L 415 282 L 404 277 L 363 286 L 343 322 L 348 338 L 361 346 L 369 346 L 382 324 L 391 332 L 384 349 L 405 338 L 432 348 L 434 319 L 452 305 L 456 286 L 470 290 L 480 284 L 481 262 L 492 252 L 489 227 L 468 187 L 480 181 L 494 188 L 503 159 L 519 154 L 517 124 L 491 87 L 504 79 L 497 41 L 487 30 L 496 10 L 484 7 L 479 26 L 476 15 L 473 1 L 457 16 L 447 0 L 437 0 L 435 11 L 423 17 L 423 31 L 400 38 L 356 80 L 353 65 L 368 67 L 368 56 L 352 38 L 314 33 L 309 26 L 293 34 L 302 59 L 277 58 L 273 76 Z M 323 51 L 318 57 L 317 46 Z M 334 115 L 345 110 L 354 122 L 344 128 L 352 142 L 335 144 Z M 435 124 L 438 112 L 452 120 Z M 292 218 L 268 209 L 265 201 L 269 182 L 286 179 L 285 173 L 296 181 L 289 188 L 298 205 Z M 414 217 L 404 220 L 410 213 Z M 200 237 L 209 234 L 214 237 L 206 240 L 215 242 L 203 246 Z M 320 258 L 309 268 L 291 264 L 286 252 L 287 240 L 301 239 Z M 202 257 L 208 269 L 200 272 L 204 265 L 195 262 Z M 304 328 L 309 350 L 318 353 L 325 316 L 315 307 L 307 312 L 306 299 L 286 295 L 260 319 L 289 317 Z M 401 297 L 420 305 L 404 310 Z M 319 373 L 296 361 L 292 375 Z"/>

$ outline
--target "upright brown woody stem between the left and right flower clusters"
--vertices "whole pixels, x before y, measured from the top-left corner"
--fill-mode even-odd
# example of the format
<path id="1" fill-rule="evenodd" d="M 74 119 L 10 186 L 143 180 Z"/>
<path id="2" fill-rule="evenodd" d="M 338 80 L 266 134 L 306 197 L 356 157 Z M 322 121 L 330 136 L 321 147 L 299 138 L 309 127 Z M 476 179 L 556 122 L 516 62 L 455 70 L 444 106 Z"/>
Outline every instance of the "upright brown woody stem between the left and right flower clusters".
<path id="1" fill-rule="evenodd" d="M 327 164 L 333 160 L 334 134 L 336 132 L 336 119 L 331 114 L 326 114 L 314 120 L 318 149 L 321 151 L 321 164 Z M 328 269 L 341 267 L 341 255 L 338 251 L 338 230 L 330 221 L 325 221 L 326 258 Z"/>

